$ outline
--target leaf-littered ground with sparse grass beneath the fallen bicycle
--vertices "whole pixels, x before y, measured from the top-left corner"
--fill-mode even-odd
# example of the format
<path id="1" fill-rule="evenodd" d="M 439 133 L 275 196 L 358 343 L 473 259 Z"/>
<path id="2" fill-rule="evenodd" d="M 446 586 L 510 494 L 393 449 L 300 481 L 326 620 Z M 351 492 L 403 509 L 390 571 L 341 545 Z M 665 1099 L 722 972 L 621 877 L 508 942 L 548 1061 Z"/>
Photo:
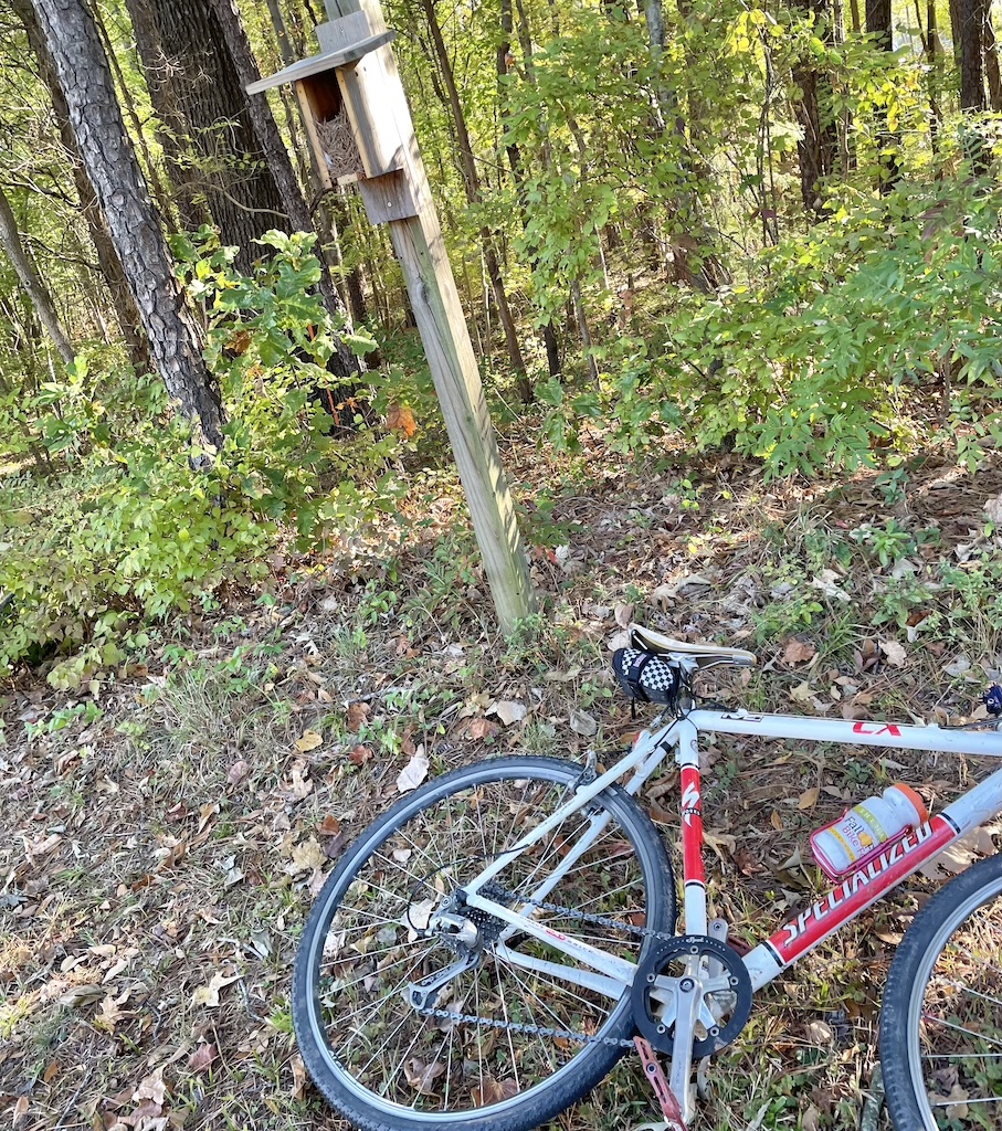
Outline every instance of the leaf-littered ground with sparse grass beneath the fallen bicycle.
<path id="1" fill-rule="evenodd" d="M 999 676 L 1002 459 L 941 450 L 891 472 L 763 480 L 734 455 L 573 456 L 509 432 L 543 612 L 504 641 L 450 475 L 404 504 L 406 538 L 275 552 L 267 578 L 149 631 L 110 677 L 0 697 L 0 1117 L 18 1131 L 345 1128 L 305 1077 L 290 981 L 310 903 L 411 780 L 525 751 L 611 759 L 637 723 L 611 649 L 638 620 L 752 648 L 710 699 L 943 720 Z M 548 484 L 532 487 L 530 484 Z M 394 529 L 397 529 L 394 527 Z M 717 741 L 711 895 L 761 936 L 818 883 L 810 831 L 892 780 L 940 808 L 983 767 Z M 645 803 L 677 835 L 666 770 Z M 994 830 L 941 863 L 992 851 Z M 846 1129 L 872 1090 L 893 944 L 919 878 L 767 990 L 698 1129 Z M 552 1128 L 656 1121 L 628 1059 Z M 884 1125 L 884 1124 L 879 1124 Z"/>

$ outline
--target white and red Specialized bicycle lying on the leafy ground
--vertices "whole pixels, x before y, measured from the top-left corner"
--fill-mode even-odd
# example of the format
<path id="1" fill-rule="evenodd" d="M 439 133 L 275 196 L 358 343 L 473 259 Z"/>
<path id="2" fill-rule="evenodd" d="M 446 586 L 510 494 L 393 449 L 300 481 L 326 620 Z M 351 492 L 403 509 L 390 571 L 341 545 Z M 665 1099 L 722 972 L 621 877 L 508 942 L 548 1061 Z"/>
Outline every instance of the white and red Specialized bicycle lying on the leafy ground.
<path id="1" fill-rule="evenodd" d="M 684 1131 L 755 991 L 1002 810 L 1000 769 L 738 947 L 709 917 L 701 734 L 1000 756 L 1002 689 L 975 728 L 703 709 L 700 668 L 750 666 L 751 653 L 640 625 L 631 646 L 616 654 L 621 682 L 666 710 L 614 766 L 507 757 L 454 770 L 398 801 L 328 878 L 296 956 L 293 1018 L 310 1074 L 359 1128 L 527 1131 L 637 1050 L 666 1126 Z M 673 752 L 681 931 L 668 851 L 637 801 Z M 1002 856 L 990 856 L 933 896 L 895 956 L 880 1047 L 899 1131 L 1002 1128 L 1000 895 Z"/>

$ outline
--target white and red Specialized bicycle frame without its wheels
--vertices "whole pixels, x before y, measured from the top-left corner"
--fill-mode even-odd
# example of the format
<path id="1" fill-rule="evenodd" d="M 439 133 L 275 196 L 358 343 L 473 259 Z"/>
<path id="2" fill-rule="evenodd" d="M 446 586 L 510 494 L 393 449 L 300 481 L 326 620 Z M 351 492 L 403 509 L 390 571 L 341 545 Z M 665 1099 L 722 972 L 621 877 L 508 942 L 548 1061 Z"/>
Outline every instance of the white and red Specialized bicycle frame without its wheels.
<path id="1" fill-rule="evenodd" d="M 587 806 L 591 798 L 614 782 L 630 774 L 625 789 L 631 794 L 639 793 L 643 783 L 672 751 L 681 770 L 682 791 L 683 913 L 682 930 L 679 933 L 726 938 L 726 924 L 722 921 L 712 923 L 708 921 L 699 774 L 701 734 L 738 734 L 853 746 L 881 746 L 890 750 L 1002 756 L 1002 733 L 997 729 L 943 729 L 936 726 L 902 726 L 892 723 L 847 722 L 792 715 L 753 715 L 743 710 L 689 710 L 660 729 L 653 733 L 642 732 L 630 752 L 615 766 L 593 782 L 578 786 L 570 801 L 561 805 L 517 845 L 501 853 L 474 880 L 464 884 L 468 906 L 489 912 L 509 924 L 496 944 L 499 957 L 512 965 L 562 978 L 614 1000 L 623 996 L 633 983 L 636 964 L 538 922 L 535 918 L 537 908 L 534 906 L 534 901 L 546 899 L 576 862 L 595 844 L 610 822 L 611 814 L 596 811 L 589 817 L 588 827 L 575 847 L 562 858 L 554 872 L 532 891 L 524 908 L 506 907 L 481 895 L 481 889 L 502 872 L 512 858 L 548 836 L 568 817 Z M 767 985 L 783 969 L 809 953 L 918 867 L 1000 810 L 1002 810 L 1002 769 L 995 770 L 984 782 L 956 798 L 942 812 L 936 813 L 904 839 L 889 843 L 886 851 L 875 860 L 836 884 L 806 910 L 789 920 L 769 939 L 745 955 L 743 961 L 752 988 L 760 990 Z M 518 949 L 509 949 L 506 942 L 516 933 L 533 935 L 547 943 L 554 951 L 581 965 L 567 966 L 524 953 Z M 711 964 L 708 969 L 700 969 L 700 962 L 699 958 L 691 959 L 685 970 L 700 988 L 698 994 L 688 995 L 685 1009 L 677 1009 L 676 986 L 681 979 L 667 977 L 656 979 L 657 988 L 664 991 L 662 996 L 668 1002 L 675 1001 L 674 1012 L 666 1015 L 664 1020 L 674 1025 L 671 1088 L 681 1102 L 684 1120 L 691 1115 L 689 1079 L 692 1068 L 692 1039 L 697 1025 L 707 1024 L 708 1020 L 705 1005 L 702 1012 L 700 1011 L 702 998 L 707 992 L 725 987 L 723 983 L 719 987 L 714 985 L 715 972 Z M 671 1010 L 672 1007 L 666 1009 Z M 712 1024 L 711 1017 L 709 1024 Z"/>

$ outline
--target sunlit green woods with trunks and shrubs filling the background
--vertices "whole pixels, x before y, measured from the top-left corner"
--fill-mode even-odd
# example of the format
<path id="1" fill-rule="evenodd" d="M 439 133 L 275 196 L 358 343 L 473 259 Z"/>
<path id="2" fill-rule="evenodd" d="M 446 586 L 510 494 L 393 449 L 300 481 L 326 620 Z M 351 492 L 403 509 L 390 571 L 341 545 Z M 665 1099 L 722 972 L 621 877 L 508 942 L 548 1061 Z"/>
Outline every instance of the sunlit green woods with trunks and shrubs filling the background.
<path id="1" fill-rule="evenodd" d="M 977 467 L 995 7 L 390 0 L 495 409 L 559 450 Z M 443 459 L 386 227 L 309 140 L 338 123 L 245 93 L 331 15 L 3 7 L 0 674 L 59 656 L 74 685 Z"/>

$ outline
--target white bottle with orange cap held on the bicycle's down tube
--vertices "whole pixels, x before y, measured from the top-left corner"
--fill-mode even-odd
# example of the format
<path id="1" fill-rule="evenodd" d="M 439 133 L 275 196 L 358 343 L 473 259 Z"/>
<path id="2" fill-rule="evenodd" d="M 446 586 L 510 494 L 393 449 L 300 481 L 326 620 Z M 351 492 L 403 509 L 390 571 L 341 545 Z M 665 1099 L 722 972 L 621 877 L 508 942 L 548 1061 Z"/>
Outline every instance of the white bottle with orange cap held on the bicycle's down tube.
<path id="1" fill-rule="evenodd" d="M 811 848 L 821 871 L 830 880 L 837 880 L 869 863 L 888 841 L 926 820 L 925 802 L 910 786 L 898 782 L 812 832 Z"/>

